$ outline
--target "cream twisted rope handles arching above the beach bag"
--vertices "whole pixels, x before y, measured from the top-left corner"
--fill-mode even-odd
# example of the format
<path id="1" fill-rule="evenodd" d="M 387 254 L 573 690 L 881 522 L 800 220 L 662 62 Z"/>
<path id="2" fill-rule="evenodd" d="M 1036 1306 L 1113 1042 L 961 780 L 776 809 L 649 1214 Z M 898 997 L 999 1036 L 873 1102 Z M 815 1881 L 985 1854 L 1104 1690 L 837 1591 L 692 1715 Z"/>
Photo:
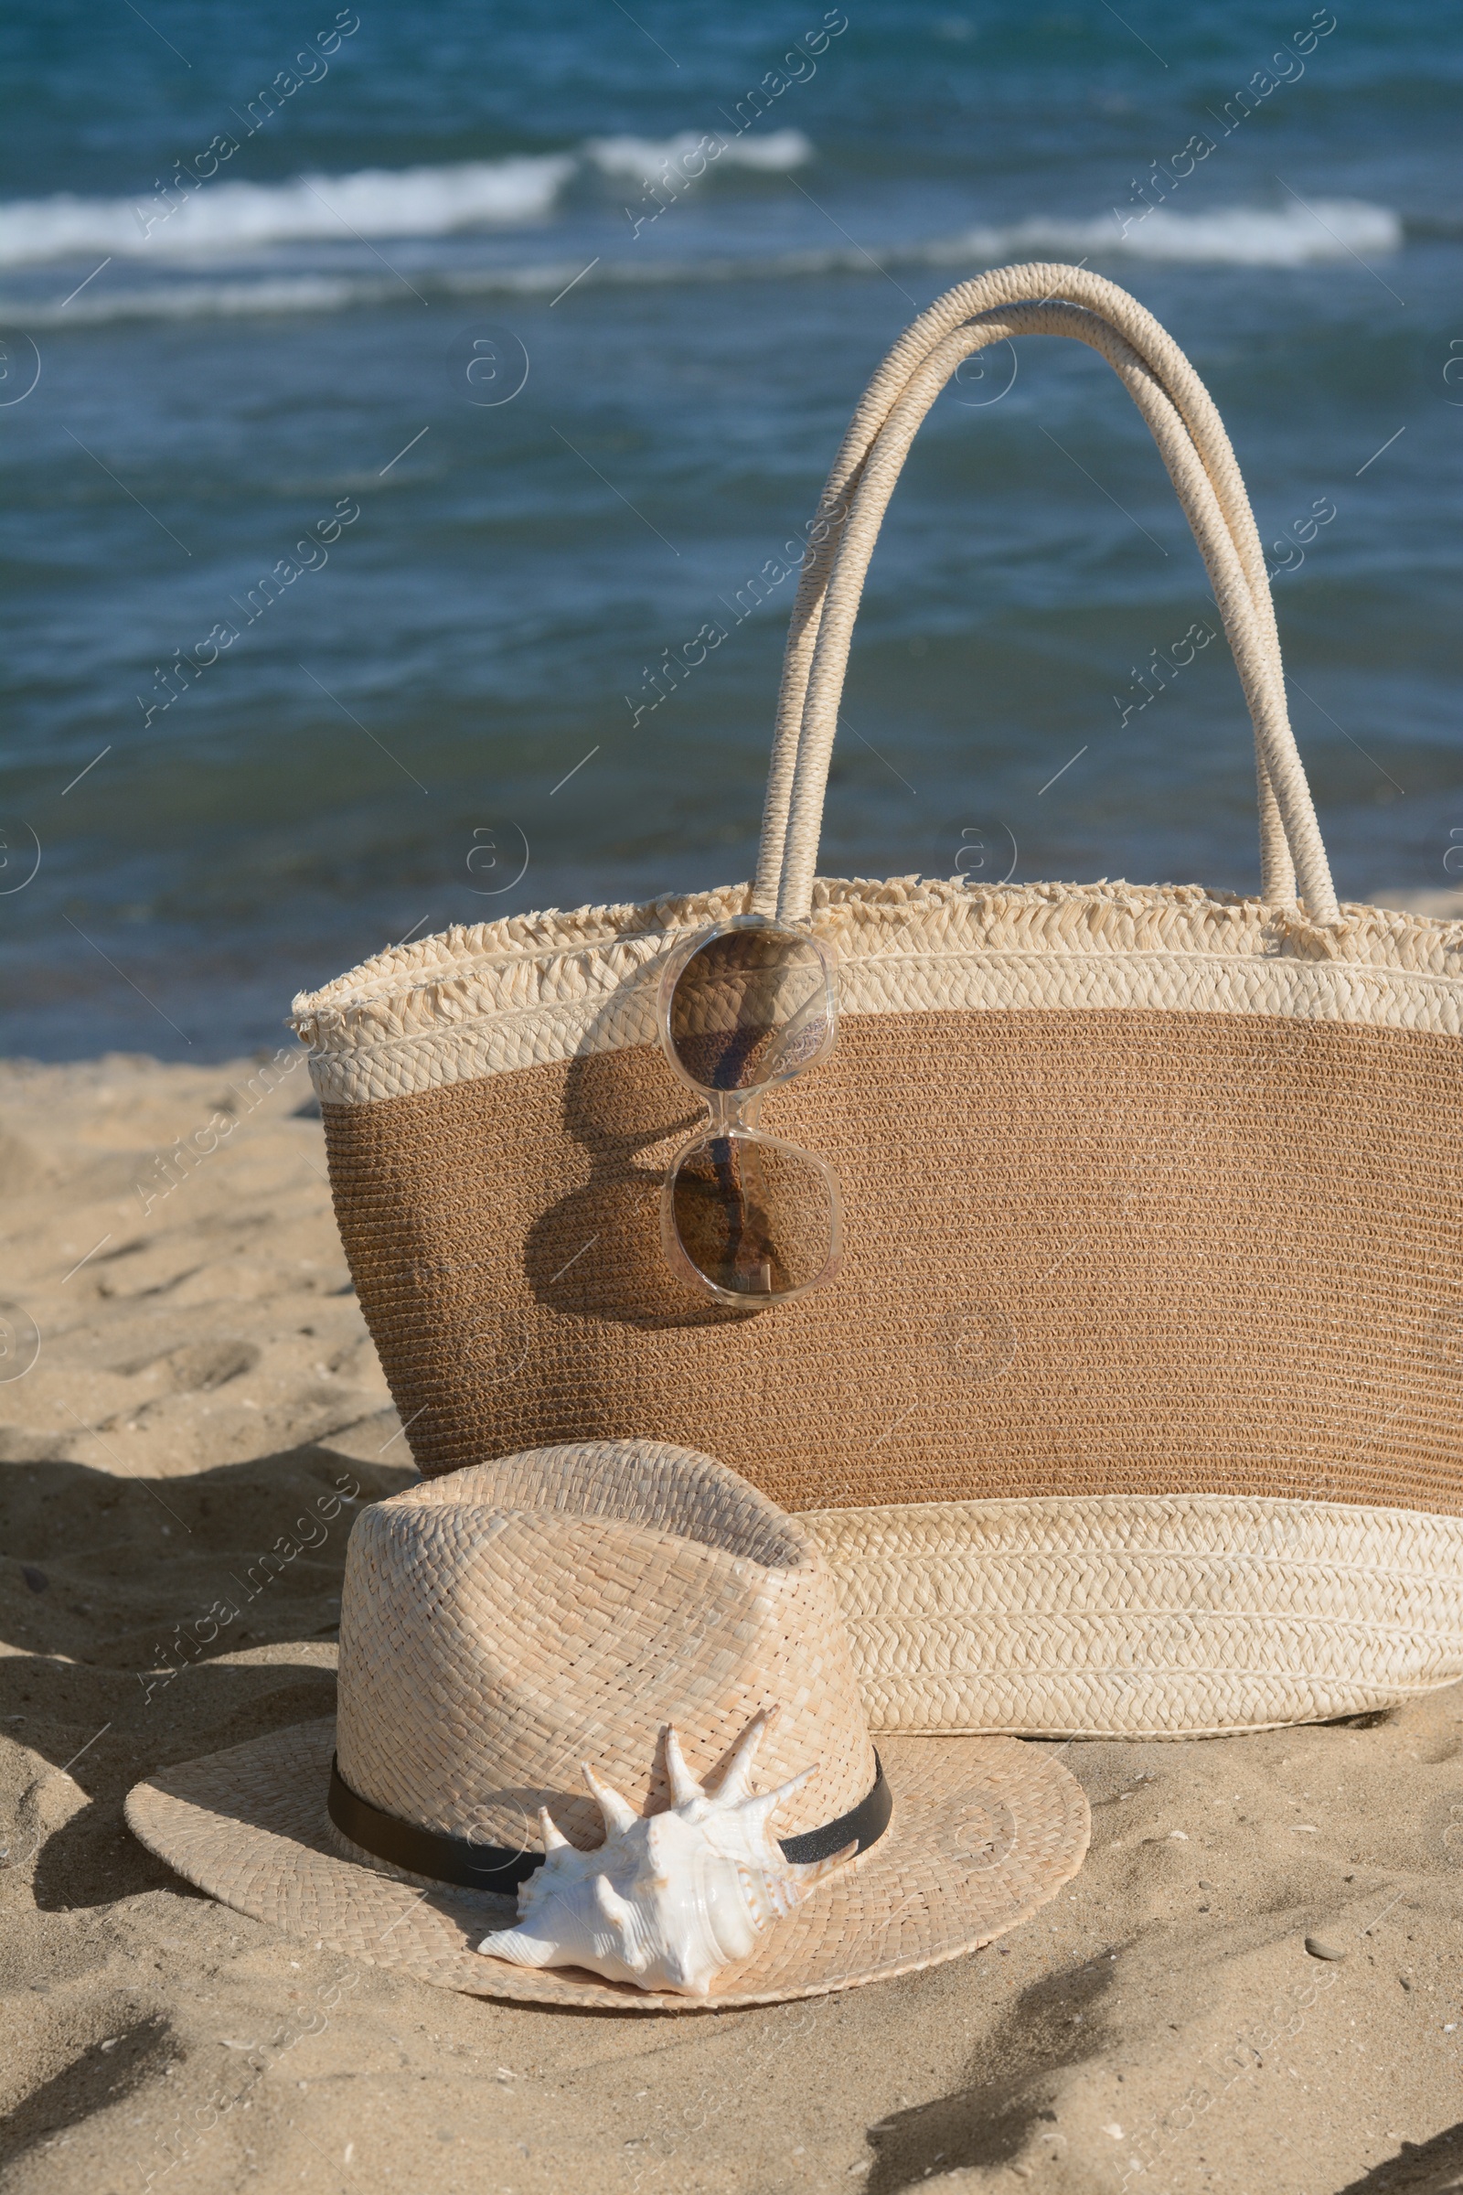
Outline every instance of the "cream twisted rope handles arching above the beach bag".
<path id="1" fill-rule="evenodd" d="M 1053 305 L 1057 296 L 1070 303 Z M 1000 309 L 1007 301 L 1016 309 Z M 792 612 L 752 904 L 785 920 L 807 915 L 853 615 L 915 428 L 963 358 L 1035 331 L 1099 349 L 1149 421 L 1204 553 L 1255 718 L 1263 898 L 1294 900 L 1294 849 L 1312 920 L 1334 922 L 1325 847 L 1285 716 L 1263 551 L 1220 415 L 1152 314 L 1114 283 L 1059 266 L 1000 268 L 937 299 L 893 347 L 849 424 Z"/>

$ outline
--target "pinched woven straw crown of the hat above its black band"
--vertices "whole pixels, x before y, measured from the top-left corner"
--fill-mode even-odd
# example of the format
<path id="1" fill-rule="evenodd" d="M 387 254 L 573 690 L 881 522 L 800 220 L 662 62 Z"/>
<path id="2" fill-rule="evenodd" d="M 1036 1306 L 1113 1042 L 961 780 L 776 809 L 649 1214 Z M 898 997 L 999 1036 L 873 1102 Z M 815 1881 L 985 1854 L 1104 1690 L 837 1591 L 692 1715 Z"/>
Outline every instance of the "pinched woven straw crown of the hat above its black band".
<path id="1" fill-rule="evenodd" d="M 796 1521 L 708 1455 L 533 1449 L 355 1521 L 338 1760 L 404 1822 L 540 1850 L 548 1806 L 588 1850 L 603 1824 L 581 1763 L 662 1813 L 665 1725 L 706 1780 L 774 1706 L 761 1787 L 814 1771 L 779 1813 L 790 1837 L 858 1806 L 873 1745 L 833 1580 Z"/>

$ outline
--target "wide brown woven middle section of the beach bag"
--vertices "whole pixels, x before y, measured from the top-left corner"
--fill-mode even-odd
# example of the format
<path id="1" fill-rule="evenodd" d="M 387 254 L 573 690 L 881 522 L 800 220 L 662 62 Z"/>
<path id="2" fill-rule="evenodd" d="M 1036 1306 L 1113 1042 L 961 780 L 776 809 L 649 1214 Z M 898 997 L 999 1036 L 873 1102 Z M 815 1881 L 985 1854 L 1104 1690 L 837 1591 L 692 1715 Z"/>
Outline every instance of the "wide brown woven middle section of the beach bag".
<path id="1" fill-rule="evenodd" d="M 660 1253 L 693 1117 L 660 1051 L 331 1106 L 327 1135 L 423 1471 L 649 1433 L 790 1510 L 1248 1493 L 1459 1515 L 1461 1100 L 1456 1040 L 1395 1027 L 844 1016 L 763 1115 L 838 1168 L 844 1271 L 759 1317 L 702 1306 Z"/>

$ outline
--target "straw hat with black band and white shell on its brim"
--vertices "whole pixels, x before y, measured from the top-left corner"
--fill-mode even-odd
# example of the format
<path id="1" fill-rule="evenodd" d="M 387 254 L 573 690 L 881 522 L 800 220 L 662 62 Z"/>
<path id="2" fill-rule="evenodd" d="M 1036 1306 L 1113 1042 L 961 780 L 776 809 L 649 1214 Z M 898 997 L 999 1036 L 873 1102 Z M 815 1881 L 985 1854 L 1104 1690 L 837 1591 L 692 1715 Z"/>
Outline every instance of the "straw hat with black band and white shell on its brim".
<path id="1" fill-rule="evenodd" d="M 1024 1921 L 1088 1844 L 1077 1780 L 1016 1738 L 875 1754 L 796 1519 L 640 1440 L 373 1504 L 338 1719 L 160 1771 L 127 1822 L 226 1905 L 349 1958 L 619 2011 L 932 1967 Z M 594 1971 L 562 1965 L 577 1947 Z"/>

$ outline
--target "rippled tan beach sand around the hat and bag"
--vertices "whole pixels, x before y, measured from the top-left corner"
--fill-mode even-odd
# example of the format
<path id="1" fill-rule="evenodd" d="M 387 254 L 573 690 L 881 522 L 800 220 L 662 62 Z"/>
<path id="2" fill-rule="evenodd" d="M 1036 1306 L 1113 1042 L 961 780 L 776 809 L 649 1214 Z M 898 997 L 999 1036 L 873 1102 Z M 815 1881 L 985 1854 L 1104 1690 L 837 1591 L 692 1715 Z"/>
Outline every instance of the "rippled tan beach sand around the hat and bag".
<path id="1" fill-rule="evenodd" d="M 4 1067 L 0 1177 L 7 2188 L 1463 2186 L 1463 1688 L 1070 1743 L 1073 1886 L 776 2011 L 467 2000 L 191 1890 L 129 1785 L 331 1710 L 349 1521 L 410 1455 L 298 1054 Z"/>

